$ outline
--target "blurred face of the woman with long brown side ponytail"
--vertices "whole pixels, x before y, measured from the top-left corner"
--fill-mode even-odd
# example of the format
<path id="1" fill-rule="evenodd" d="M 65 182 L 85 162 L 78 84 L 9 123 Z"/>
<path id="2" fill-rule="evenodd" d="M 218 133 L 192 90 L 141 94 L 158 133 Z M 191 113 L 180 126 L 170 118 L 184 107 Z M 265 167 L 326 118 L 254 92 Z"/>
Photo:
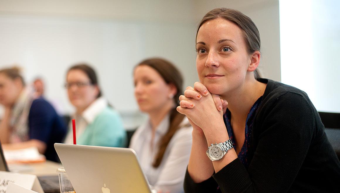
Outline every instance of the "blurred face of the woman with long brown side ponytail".
<path id="1" fill-rule="evenodd" d="M 148 65 L 139 65 L 134 71 L 135 97 L 142 112 L 151 113 L 162 109 L 173 99 L 173 86 L 167 84 L 162 76 Z"/>

